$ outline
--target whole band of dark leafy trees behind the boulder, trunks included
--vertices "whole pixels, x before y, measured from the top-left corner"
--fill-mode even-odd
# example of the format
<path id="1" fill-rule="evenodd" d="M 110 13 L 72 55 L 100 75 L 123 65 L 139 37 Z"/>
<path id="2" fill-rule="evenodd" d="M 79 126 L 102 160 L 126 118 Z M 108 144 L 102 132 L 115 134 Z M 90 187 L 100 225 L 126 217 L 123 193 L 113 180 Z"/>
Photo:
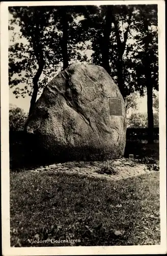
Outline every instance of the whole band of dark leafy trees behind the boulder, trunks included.
<path id="1" fill-rule="evenodd" d="M 16 97 L 32 95 L 33 108 L 37 94 L 62 67 L 87 61 L 112 75 L 123 97 L 132 100 L 131 108 L 137 106 L 130 95 L 147 92 L 152 133 L 157 5 L 10 7 L 9 12 L 9 85 Z"/>

